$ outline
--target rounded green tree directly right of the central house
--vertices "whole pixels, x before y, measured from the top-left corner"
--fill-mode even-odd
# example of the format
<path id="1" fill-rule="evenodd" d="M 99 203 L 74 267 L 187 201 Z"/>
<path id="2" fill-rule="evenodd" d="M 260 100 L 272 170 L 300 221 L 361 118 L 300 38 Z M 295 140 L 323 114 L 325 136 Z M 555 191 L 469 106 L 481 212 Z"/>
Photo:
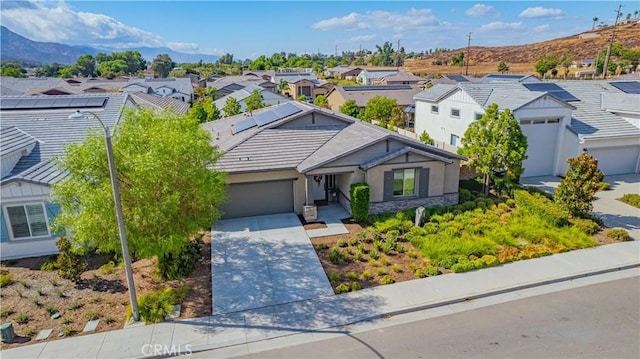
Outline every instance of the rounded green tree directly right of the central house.
<path id="1" fill-rule="evenodd" d="M 520 181 L 522 161 L 527 156 L 527 138 L 509 109 L 489 105 L 485 114 L 471 122 L 459 152 L 469 165 L 484 175 L 484 192 L 494 183 L 499 192 L 510 192 Z"/>

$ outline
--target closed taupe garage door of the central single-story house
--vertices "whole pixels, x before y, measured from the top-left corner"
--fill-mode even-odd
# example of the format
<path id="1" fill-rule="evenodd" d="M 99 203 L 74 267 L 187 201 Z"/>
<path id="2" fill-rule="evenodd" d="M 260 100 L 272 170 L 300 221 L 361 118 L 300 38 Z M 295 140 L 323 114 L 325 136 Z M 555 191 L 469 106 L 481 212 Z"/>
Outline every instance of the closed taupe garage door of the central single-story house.
<path id="1" fill-rule="evenodd" d="M 293 181 L 231 184 L 222 211 L 222 218 L 293 212 Z"/>

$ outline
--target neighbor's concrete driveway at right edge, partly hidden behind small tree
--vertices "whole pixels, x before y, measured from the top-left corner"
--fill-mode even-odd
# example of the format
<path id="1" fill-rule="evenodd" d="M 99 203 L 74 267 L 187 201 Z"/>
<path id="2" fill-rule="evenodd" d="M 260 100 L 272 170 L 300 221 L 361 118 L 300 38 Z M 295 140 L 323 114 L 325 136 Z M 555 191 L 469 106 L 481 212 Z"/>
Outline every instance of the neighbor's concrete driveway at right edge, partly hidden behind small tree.
<path id="1" fill-rule="evenodd" d="M 553 193 L 560 180 L 560 177 L 545 176 L 523 178 L 520 182 Z M 624 228 L 633 239 L 640 240 L 640 209 L 617 200 L 626 193 L 640 194 L 640 174 L 606 176 L 604 180 L 611 189 L 596 193 L 593 213 L 602 218 L 607 227 Z"/>

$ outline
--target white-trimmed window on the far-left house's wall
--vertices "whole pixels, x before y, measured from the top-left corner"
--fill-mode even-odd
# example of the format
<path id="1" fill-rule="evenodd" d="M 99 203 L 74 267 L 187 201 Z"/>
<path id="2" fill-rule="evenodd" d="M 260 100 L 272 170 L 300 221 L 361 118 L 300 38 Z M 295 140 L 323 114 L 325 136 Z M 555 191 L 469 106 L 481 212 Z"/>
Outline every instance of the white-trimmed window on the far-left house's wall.
<path id="1" fill-rule="evenodd" d="M 7 206 L 9 228 L 14 239 L 49 235 L 49 224 L 44 203 Z"/>

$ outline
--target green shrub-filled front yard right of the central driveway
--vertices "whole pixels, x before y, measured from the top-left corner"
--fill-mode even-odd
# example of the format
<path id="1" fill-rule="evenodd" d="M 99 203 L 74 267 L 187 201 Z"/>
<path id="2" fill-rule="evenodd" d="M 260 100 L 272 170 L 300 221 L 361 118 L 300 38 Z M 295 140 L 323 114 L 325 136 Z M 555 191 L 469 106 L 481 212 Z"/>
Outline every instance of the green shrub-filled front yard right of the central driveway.
<path id="1" fill-rule="evenodd" d="M 349 234 L 312 239 L 334 291 L 503 263 L 625 240 L 603 231 L 597 219 L 569 218 L 540 193 L 516 191 L 514 199 L 487 198 L 461 190 L 462 203 L 415 212 L 371 216 L 369 223 L 343 221 Z M 626 232 L 625 232 L 626 233 Z"/>

